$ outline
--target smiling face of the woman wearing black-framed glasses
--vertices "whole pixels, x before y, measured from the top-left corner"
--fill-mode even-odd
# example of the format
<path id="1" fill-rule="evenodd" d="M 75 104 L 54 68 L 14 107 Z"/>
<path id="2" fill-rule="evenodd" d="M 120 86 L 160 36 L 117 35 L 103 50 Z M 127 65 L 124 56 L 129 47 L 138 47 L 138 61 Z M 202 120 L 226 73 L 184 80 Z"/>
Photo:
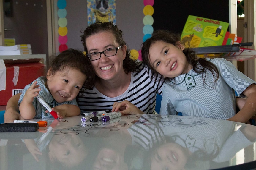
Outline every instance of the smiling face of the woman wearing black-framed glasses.
<path id="1" fill-rule="evenodd" d="M 100 32 L 89 36 L 86 39 L 86 47 L 88 54 L 93 52 L 102 52 L 108 48 L 116 48 L 122 44 L 116 42 L 113 33 Z M 114 56 L 106 57 L 101 54 L 100 59 L 91 61 L 95 74 L 103 80 L 119 79 L 118 75 L 124 72 L 123 60 L 126 56 L 126 46 L 123 45 Z"/>

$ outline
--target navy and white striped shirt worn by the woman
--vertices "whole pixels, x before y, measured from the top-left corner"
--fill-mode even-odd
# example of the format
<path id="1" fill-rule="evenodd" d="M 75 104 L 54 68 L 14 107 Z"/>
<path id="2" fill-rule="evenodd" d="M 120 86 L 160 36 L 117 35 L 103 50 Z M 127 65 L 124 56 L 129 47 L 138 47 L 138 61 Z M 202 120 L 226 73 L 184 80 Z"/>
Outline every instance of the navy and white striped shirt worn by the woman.
<path id="1" fill-rule="evenodd" d="M 131 83 L 122 95 L 107 97 L 95 87 L 81 91 L 78 97 L 81 113 L 112 109 L 114 102 L 128 100 L 145 114 L 155 114 L 156 94 L 162 94 L 163 81 L 156 80 L 142 62 L 138 63 L 138 67 L 140 71 L 131 74 Z"/>

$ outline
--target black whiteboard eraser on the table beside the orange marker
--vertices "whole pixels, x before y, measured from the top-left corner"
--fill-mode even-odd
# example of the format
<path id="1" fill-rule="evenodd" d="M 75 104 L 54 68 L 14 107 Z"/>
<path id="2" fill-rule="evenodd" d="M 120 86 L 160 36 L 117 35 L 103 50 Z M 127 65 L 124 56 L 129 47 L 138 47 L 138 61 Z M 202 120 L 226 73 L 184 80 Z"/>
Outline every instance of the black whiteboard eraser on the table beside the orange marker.
<path id="1" fill-rule="evenodd" d="M 39 129 L 38 123 L 2 123 L 0 132 L 35 132 Z"/>

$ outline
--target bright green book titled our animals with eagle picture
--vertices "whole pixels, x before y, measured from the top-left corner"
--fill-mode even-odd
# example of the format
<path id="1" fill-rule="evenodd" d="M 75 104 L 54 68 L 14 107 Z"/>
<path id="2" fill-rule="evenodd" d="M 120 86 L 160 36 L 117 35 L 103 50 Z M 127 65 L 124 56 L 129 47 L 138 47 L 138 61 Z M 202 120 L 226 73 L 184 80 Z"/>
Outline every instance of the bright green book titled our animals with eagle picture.
<path id="1" fill-rule="evenodd" d="M 181 34 L 186 48 L 221 46 L 229 23 L 189 15 Z"/>

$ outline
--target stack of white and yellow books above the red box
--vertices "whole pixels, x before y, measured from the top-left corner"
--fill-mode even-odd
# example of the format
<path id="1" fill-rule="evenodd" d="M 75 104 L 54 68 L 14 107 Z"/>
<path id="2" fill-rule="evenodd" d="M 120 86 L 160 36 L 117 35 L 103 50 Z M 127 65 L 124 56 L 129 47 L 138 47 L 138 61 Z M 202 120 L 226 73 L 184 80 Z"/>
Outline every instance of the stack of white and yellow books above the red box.
<path id="1" fill-rule="evenodd" d="M 0 56 L 32 54 L 30 44 L 18 44 L 15 46 L 0 46 Z"/>

